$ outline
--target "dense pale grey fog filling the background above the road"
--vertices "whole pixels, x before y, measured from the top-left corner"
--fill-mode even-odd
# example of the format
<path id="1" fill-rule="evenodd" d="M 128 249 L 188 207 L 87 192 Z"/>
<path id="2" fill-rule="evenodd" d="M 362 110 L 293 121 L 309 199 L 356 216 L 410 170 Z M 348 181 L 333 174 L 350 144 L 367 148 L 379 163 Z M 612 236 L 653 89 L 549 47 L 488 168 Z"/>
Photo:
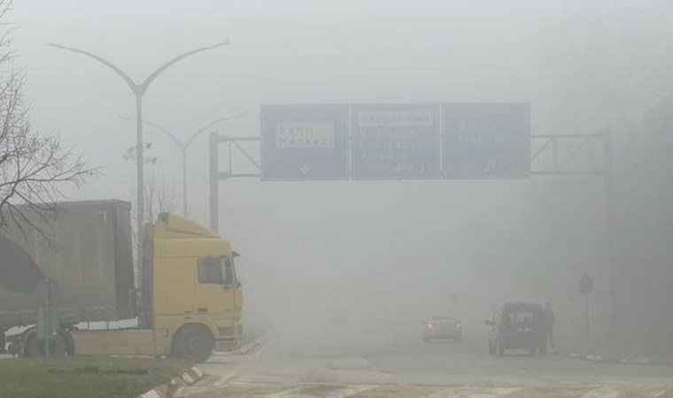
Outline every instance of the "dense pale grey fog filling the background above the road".
<path id="1" fill-rule="evenodd" d="M 242 254 L 245 330 L 418 341 L 423 320 L 450 313 L 466 339 L 483 342 L 496 306 L 533 301 L 552 303 L 560 344 L 583 347 L 577 282 L 588 272 L 596 345 L 619 341 L 627 355 L 673 348 L 670 2 L 34 0 L 10 17 L 34 127 L 104 167 L 67 193 L 73 200 L 135 201 L 135 162 L 123 157 L 135 124 L 120 119 L 135 117 L 135 98 L 103 65 L 46 42 L 143 80 L 183 51 L 231 39 L 171 67 L 143 98 L 143 118 L 182 140 L 246 112 L 189 149 L 188 213 L 205 225 L 207 133 L 259 137 L 262 104 L 530 103 L 533 135 L 612 132 L 612 190 L 601 139 L 576 156 L 581 140 L 559 143 L 564 170 L 595 172 L 583 175 L 220 182 L 220 233 Z M 146 180 L 167 198 L 152 216 L 180 212 L 180 151 L 151 126 L 144 137 L 156 158 Z M 259 145 L 244 145 L 259 160 Z M 531 140 L 531 153 L 542 145 Z M 232 153 L 237 172 L 258 172 Z M 224 170 L 224 147 L 220 156 Z M 531 164 L 552 168 L 548 148 Z M 345 314 L 338 327 L 335 308 Z"/>

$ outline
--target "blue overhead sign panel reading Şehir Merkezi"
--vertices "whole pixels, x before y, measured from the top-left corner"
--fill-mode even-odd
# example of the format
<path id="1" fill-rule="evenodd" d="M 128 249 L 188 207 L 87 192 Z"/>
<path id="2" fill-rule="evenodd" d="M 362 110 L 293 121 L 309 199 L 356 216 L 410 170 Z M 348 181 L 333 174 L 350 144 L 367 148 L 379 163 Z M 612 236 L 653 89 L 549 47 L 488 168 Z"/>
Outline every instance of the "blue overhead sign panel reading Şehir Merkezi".
<path id="1" fill-rule="evenodd" d="M 348 105 L 263 105 L 262 180 L 347 180 Z"/>

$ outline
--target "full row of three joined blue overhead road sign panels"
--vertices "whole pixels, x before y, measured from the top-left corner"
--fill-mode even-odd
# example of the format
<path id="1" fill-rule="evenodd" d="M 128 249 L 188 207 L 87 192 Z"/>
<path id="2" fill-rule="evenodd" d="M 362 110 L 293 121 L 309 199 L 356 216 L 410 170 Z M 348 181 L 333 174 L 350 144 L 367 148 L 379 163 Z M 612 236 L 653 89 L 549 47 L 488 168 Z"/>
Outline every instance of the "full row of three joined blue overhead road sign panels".
<path id="1" fill-rule="evenodd" d="M 263 105 L 260 114 L 262 180 L 530 174 L 529 103 Z"/>

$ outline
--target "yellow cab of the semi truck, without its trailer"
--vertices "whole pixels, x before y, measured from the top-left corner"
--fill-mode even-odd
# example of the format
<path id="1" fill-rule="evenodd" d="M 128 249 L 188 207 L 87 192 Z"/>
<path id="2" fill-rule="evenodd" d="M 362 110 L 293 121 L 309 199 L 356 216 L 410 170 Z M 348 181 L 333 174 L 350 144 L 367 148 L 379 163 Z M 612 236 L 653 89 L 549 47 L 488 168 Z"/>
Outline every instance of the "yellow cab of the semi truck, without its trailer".
<path id="1" fill-rule="evenodd" d="M 151 299 L 143 302 L 142 319 L 151 319 L 163 336 L 162 351 L 203 359 L 216 343 L 225 348 L 240 341 L 243 295 L 229 242 L 169 213 L 145 236 L 143 292 Z"/>

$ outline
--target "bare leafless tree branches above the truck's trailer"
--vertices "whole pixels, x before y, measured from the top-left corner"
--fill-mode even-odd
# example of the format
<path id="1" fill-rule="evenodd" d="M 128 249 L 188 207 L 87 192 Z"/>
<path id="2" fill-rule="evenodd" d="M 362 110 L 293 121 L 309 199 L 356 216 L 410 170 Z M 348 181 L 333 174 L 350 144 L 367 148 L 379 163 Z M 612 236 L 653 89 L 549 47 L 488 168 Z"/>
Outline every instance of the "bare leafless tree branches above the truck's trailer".
<path id="1" fill-rule="evenodd" d="M 50 218 L 63 189 L 81 188 L 99 169 L 87 167 L 58 136 L 31 127 L 23 96 L 27 76 L 13 65 L 12 26 L 4 22 L 11 7 L 12 0 L 0 0 L 0 228 L 11 221 L 24 234 L 43 234 L 37 221 Z"/>

